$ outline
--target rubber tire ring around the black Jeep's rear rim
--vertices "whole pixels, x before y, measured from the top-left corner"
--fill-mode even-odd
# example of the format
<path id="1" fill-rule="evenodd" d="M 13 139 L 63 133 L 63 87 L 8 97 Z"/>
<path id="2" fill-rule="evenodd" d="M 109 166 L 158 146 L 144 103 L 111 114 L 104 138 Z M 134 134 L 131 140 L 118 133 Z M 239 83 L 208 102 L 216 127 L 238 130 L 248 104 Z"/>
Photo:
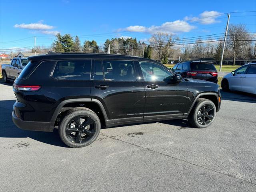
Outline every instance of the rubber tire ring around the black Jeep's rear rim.
<path id="1" fill-rule="evenodd" d="M 66 124 L 68 124 L 68 122 L 72 118 L 74 118 L 75 116 L 78 116 L 78 115 L 88 116 L 88 117 L 92 118 L 96 124 L 95 134 L 92 136 L 92 138 L 90 140 L 88 140 L 87 142 L 82 143 L 82 144 L 73 143 L 66 136 Z M 70 147 L 78 148 L 78 147 L 84 147 L 84 146 L 90 145 L 90 144 L 92 144 L 92 142 L 94 142 L 96 140 L 96 138 L 100 134 L 100 119 L 98 118 L 98 116 L 96 114 L 94 114 L 93 112 L 90 112 L 90 111 L 80 110 L 80 111 L 72 112 L 71 114 L 68 114 L 67 116 L 65 116 L 62 119 L 62 122 L 59 127 L 59 133 L 60 133 L 60 138 L 62 139 L 62 141 Z"/>

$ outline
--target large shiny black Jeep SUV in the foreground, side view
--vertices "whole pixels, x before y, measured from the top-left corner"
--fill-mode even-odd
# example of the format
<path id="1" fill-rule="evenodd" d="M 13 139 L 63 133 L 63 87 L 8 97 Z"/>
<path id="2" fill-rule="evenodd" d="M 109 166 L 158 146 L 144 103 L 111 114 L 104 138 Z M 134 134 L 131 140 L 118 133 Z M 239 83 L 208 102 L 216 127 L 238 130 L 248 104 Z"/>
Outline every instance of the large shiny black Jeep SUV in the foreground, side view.
<path id="1" fill-rule="evenodd" d="M 182 78 L 154 60 L 80 53 L 28 59 L 13 84 L 12 120 L 25 130 L 58 127 L 70 147 L 94 142 L 101 126 L 188 118 L 205 128 L 220 109 L 217 84 Z"/>

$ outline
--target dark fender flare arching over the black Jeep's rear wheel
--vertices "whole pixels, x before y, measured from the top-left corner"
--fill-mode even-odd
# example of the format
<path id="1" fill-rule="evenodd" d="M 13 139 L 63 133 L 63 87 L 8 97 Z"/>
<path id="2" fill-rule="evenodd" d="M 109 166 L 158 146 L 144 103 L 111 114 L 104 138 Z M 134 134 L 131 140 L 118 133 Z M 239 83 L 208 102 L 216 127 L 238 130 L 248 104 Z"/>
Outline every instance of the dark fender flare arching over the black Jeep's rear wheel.
<path id="1" fill-rule="evenodd" d="M 98 100 L 98 99 L 91 99 L 91 98 L 79 98 L 79 99 L 68 99 L 68 100 L 64 100 L 62 102 L 60 102 L 60 104 L 58 104 L 56 110 L 54 111 L 54 114 L 52 116 L 51 122 L 55 122 L 58 114 L 60 113 L 61 108 L 68 104 L 68 103 L 76 103 L 76 102 L 94 102 L 96 104 L 98 104 L 98 106 L 100 107 L 102 114 L 104 116 L 104 120 L 108 120 L 108 116 L 106 113 L 106 110 L 104 108 L 104 106 L 102 105 L 102 103 Z"/>

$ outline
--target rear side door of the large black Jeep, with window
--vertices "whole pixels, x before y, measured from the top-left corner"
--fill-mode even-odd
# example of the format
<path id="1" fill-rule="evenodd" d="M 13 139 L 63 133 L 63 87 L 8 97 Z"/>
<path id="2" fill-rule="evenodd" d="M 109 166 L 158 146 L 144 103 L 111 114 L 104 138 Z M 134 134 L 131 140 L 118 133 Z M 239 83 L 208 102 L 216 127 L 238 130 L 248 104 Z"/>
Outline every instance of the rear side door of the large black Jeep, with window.
<path id="1" fill-rule="evenodd" d="M 137 75 L 132 60 L 94 60 L 91 94 L 105 106 L 109 120 L 143 119 L 145 89 Z"/>

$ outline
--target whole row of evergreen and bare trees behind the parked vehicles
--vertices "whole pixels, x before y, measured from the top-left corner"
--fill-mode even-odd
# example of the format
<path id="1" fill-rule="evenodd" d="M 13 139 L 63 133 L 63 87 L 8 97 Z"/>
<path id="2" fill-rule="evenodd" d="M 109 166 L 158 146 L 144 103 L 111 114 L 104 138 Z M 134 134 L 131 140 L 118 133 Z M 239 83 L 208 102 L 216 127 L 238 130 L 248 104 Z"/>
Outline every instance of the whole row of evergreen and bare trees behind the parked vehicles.
<path id="1" fill-rule="evenodd" d="M 217 39 L 198 38 L 192 43 L 180 39 L 175 34 L 158 32 L 149 38 L 148 42 L 138 41 L 136 38 L 111 38 L 106 39 L 102 47 L 95 40 L 85 40 L 83 44 L 78 36 L 74 38 L 70 34 L 57 34 L 52 43 L 52 49 L 56 52 L 84 52 L 106 53 L 110 45 L 112 54 L 129 54 L 144 58 L 158 60 L 163 64 L 168 63 L 168 58 L 178 58 L 182 61 L 192 58 L 215 58 L 220 61 L 223 47 L 223 36 Z M 228 28 L 227 42 L 224 58 L 232 58 L 235 64 L 236 58 L 256 57 L 256 36 L 251 34 L 243 24 L 230 25 Z"/>

